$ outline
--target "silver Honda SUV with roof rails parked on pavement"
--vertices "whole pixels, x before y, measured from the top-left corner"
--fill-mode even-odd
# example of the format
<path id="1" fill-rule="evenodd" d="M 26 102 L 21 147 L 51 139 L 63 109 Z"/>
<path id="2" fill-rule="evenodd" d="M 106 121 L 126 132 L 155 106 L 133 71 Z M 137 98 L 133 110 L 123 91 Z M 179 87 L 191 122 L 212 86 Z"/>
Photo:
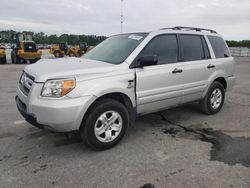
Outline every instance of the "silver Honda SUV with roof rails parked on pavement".
<path id="1" fill-rule="evenodd" d="M 136 116 L 198 101 L 220 111 L 235 82 L 234 59 L 213 30 L 165 28 L 112 36 L 82 58 L 25 67 L 16 103 L 27 122 L 80 132 L 96 149 L 116 145 Z"/>

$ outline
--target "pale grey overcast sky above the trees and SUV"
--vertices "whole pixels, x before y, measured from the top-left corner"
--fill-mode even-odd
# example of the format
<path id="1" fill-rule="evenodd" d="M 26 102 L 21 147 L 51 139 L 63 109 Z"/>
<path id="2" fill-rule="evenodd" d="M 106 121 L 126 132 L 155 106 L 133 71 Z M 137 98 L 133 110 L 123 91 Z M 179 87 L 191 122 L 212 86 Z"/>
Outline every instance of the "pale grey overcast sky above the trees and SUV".
<path id="1" fill-rule="evenodd" d="M 0 30 L 46 34 L 120 33 L 120 0 L 1 0 Z M 250 0 L 124 0 L 124 32 L 177 25 L 250 39 Z"/>

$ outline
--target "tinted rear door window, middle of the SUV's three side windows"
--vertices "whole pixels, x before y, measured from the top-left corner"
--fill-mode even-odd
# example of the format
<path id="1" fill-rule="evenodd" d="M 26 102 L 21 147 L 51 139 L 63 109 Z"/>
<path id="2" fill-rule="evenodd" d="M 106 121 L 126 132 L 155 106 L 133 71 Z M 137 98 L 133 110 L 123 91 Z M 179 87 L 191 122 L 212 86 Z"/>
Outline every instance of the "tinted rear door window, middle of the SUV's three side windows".
<path id="1" fill-rule="evenodd" d="M 181 35 L 184 61 L 194 61 L 205 58 L 201 36 Z"/>

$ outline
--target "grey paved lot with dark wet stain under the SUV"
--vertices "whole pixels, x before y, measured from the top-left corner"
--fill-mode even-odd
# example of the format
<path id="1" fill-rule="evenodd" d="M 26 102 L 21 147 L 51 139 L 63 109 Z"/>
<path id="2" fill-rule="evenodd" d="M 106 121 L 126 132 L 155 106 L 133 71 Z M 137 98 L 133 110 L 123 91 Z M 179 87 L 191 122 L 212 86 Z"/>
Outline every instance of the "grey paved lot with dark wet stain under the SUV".
<path id="1" fill-rule="evenodd" d="M 0 66 L 0 187 L 250 187 L 250 59 L 222 111 L 197 104 L 137 119 L 115 148 L 96 152 L 23 121 L 14 101 L 24 65 Z"/>

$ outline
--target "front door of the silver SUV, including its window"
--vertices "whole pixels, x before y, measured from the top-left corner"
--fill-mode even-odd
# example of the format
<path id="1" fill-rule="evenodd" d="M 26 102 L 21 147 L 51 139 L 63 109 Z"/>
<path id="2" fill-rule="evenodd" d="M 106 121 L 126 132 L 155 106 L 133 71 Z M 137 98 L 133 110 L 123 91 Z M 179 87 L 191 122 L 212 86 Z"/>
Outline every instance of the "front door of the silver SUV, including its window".
<path id="1" fill-rule="evenodd" d="M 157 55 L 158 64 L 136 68 L 136 95 L 138 114 L 158 111 L 180 103 L 182 75 L 176 69 L 179 57 L 177 35 L 167 34 L 153 38 L 142 50 L 144 55 Z"/>

